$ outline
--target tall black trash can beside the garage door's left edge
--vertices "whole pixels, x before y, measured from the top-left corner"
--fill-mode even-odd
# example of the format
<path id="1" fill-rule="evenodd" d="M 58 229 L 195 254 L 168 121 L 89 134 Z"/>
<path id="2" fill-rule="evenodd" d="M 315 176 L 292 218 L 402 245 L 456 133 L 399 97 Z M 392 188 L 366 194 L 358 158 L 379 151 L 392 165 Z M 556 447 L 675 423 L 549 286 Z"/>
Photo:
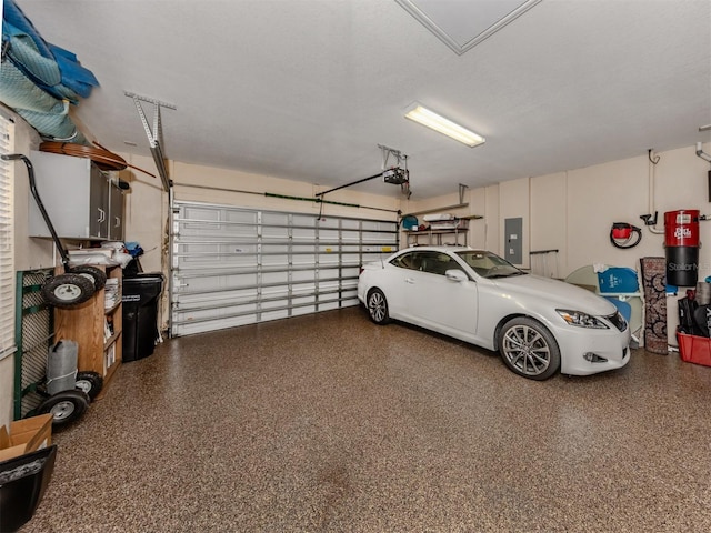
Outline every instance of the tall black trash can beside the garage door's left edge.
<path id="1" fill-rule="evenodd" d="M 148 358 L 158 339 L 158 302 L 163 274 L 139 273 L 123 278 L 123 362 Z"/>

